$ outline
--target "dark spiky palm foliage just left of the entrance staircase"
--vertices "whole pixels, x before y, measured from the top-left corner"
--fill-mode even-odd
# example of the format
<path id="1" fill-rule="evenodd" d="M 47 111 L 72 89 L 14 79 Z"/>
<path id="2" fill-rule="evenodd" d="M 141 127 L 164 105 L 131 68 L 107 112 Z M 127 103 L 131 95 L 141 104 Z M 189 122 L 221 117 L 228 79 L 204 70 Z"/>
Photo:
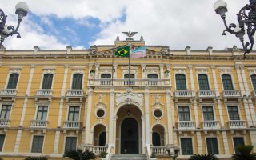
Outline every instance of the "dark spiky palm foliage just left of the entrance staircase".
<path id="1" fill-rule="evenodd" d="M 66 151 L 63 157 L 71 158 L 74 160 L 96 159 L 95 154 L 89 150 L 86 150 L 85 152 L 82 152 L 82 150 L 69 150 Z"/>

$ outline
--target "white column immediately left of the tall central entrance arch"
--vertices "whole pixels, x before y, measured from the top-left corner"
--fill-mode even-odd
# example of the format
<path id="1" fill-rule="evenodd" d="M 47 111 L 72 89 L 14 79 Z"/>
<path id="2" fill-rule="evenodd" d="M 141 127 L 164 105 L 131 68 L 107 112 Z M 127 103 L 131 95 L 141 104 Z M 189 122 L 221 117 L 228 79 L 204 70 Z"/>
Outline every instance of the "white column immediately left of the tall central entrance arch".
<path id="1" fill-rule="evenodd" d="M 109 119 L 109 143 L 114 143 L 114 88 L 110 89 L 110 119 Z"/>

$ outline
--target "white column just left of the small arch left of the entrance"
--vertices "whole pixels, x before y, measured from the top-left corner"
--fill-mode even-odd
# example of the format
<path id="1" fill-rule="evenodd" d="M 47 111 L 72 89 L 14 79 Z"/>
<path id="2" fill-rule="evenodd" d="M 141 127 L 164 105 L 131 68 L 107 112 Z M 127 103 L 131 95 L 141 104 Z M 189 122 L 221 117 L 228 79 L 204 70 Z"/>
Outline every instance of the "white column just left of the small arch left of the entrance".
<path id="1" fill-rule="evenodd" d="M 90 88 L 88 90 L 88 103 L 87 103 L 87 113 L 86 113 L 86 145 L 90 144 L 90 113 L 91 105 L 93 101 L 93 90 Z"/>

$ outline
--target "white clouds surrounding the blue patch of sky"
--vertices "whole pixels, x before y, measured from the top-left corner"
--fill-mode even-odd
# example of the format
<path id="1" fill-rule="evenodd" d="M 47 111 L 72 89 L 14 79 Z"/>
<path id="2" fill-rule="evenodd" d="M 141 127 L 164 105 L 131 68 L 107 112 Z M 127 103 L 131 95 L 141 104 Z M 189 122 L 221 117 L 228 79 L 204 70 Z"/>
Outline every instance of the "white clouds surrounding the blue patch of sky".
<path id="1" fill-rule="evenodd" d="M 241 47 L 238 38 L 235 38 L 234 35 L 222 36 L 224 25 L 222 19 L 213 10 L 215 0 L 24 1 L 28 3 L 34 14 L 42 17 L 55 15 L 58 18 L 74 18 L 78 21 L 78 24 L 81 19 L 98 18 L 101 21 L 102 31 L 94 35 L 94 41 L 90 44 L 113 44 L 118 34 L 120 34 L 121 39 L 125 39 L 121 32 L 130 30 L 138 31 L 135 39 L 142 35 L 148 45 L 167 45 L 171 49 L 184 49 L 185 46 L 191 46 L 194 50 L 206 50 L 207 46 L 213 46 L 215 50 L 223 50 L 225 46 L 237 45 Z M 18 1 L 2 1 L 2 9 L 6 13 L 14 13 L 16 2 Z M 229 5 L 229 12 L 226 14 L 227 21 L 237 22 L 236 14 L 238 10 L 248 1 L 226 0 L 226 2 Z M 126 15 L 125 22 L 117 20 L 124 14 Z M 83 23 L 90 26 L 90 22 Z M 30 28 L 29 24 L 25 22 L 22 25 Z M 22 40 L 9 38 L 8 41 L 13 43 L 6 41 L 7 48 L 18 49 L 22 46 L 22 48 L 25 46 L 31 48 L 31 45 L 22 45 L 22 43 L 27 43 L 29 35 L 30 38 L 35 38 L 30 39 L 30 41 L 33 41 L 33 43 L 40 42 L 46 48 L 66 46 L 66 44 L 58 42 L 57 38 L 44 34 L 39 26 L 34 27 L 38 28 L 36 29 L 37 32 L 27 29 L 21 31 Z M 34 34 L 34 37 L 32 37 L 32 34 Z M 21 45 L 18 46 L 15 43 L 16 41 L 20 42 Z M 12 46 L 9 46 L 10 44 Z M 36 46 L 40 46 L 40 44 L 36 44 Z"/>

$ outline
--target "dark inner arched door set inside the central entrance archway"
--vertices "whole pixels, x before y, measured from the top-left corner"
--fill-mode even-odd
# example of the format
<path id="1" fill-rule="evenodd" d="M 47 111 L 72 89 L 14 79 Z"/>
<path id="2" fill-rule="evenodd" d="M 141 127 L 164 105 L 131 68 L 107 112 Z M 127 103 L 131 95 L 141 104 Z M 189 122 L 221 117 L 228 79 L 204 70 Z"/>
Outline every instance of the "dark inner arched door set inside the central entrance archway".
<path id="1" fill-rule="evenodd" d="M 121 125 L 121 154 L 138 154 L 138 122 L 126 118 Z"/>

